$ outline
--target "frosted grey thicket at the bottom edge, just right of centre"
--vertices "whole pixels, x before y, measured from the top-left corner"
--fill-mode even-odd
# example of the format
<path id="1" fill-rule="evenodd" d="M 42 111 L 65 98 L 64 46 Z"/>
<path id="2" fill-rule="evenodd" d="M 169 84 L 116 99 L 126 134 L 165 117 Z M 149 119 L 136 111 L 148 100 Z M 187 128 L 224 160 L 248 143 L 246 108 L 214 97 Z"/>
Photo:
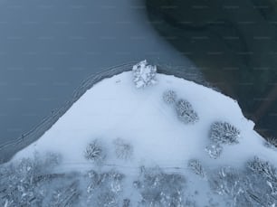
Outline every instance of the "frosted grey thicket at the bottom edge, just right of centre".
<path id="1" fill-rule="evenodd" d="M 142 167 L 135 186 L 141 195 L 142 206 L 185 206 L 185 183 L 186 179 L 181 174 L 167 174 L 158 167 Z"/>

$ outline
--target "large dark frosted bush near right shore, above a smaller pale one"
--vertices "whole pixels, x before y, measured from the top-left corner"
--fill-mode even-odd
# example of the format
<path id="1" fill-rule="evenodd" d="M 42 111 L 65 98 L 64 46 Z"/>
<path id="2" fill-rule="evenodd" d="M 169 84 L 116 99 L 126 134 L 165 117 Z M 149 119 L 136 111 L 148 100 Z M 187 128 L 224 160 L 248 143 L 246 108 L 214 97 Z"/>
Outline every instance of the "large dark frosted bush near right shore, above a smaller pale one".
<path id="1" fill-rule="evenodd" d="M 218 145 L 238 144 L 240 131 L 227 122 L 216 121 L 210 129 L 210 139 Z"/>

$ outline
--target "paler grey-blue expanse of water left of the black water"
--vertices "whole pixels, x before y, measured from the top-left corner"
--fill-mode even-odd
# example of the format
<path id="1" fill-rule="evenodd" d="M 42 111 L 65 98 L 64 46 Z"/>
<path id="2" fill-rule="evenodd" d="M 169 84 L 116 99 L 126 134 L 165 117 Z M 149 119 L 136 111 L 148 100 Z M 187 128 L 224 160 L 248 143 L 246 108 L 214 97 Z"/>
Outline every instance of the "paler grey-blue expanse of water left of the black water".
<path id="1" fill-rule="evenodd" d="M 115 74 L 147 59 L 199 77 L 153 29 L 144 1 L 1 0 L 0 31 L 2 161 L 42 135 L 107 68 L 122 65 Z"/>

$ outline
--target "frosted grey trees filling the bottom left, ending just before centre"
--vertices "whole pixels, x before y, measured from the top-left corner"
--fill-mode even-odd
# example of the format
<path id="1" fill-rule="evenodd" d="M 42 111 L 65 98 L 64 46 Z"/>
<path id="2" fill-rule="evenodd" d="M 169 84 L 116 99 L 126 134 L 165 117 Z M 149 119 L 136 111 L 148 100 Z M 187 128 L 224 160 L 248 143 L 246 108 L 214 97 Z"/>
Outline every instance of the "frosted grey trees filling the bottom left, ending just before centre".
<path id="1" fill-rule="evenodd" d="M 56 156 L 22 159 L 0 167 L 0 206 L 119 206 L 124 175 L 110 170 L 53 174 Z"/>

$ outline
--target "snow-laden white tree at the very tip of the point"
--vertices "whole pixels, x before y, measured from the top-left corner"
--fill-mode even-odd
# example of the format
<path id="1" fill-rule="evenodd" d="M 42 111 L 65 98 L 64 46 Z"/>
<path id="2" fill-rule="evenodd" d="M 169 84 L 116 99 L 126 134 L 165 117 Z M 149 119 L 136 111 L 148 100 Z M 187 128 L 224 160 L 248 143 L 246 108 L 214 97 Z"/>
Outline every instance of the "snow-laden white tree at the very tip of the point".
<path id="1" fill-rule="evenodd" d="M 149 65 L 147 61 L 140 61 L 133 66 L 133 81 L 136 87 L 145 88 L 157 83 L 157 67 Z"/>

